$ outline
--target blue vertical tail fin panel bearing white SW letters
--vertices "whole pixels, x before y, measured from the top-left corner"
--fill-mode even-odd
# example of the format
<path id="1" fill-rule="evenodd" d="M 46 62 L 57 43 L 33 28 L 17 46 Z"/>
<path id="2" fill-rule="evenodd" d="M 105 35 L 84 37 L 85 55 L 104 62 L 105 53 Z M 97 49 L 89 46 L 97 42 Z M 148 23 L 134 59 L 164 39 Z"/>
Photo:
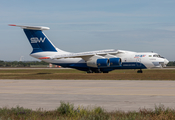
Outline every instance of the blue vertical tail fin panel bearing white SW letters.
<path id="1" fill-rule="evenodd" d="M 44 51 L 57 52 L 55 46 L 41 30 L 24 29 L 24 32 L 33 47 L 32 53 Z"/>

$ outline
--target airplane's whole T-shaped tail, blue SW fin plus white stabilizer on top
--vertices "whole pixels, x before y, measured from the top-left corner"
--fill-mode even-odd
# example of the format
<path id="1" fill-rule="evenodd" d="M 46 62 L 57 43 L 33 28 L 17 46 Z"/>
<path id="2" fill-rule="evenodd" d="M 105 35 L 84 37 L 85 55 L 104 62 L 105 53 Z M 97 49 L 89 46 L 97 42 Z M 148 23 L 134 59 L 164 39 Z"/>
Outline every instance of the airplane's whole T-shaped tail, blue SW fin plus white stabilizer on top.
<path id="1" fill-rule="evenodd" d="M 22 26 L 22 25 L 13 25 L 9 26 L 17 26 L 21 27 L 26 34 L 29 43 L 31 44 L 33 51 L 36 52 L 57 52 L 56 47 L 53 43 L 48 39 L 48 37 L 43 33 L 43 30 L 49 30 L 48 27 L 38 27 L 38 26 Z"/>

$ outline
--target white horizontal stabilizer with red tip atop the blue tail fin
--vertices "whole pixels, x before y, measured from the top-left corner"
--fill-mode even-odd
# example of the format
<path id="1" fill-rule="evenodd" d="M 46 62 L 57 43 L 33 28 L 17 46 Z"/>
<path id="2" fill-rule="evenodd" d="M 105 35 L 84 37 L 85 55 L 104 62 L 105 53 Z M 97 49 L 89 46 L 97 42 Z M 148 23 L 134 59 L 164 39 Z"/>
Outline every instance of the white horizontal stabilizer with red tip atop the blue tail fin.
<path id="1" fill-rule="evenodd" d="M 23 25 L 14 25 L 14 24 L 9 24 L 9 26 L 16 26 L 16 27 L 21 27 L 22 29 L 29 29 L 29 30 L 49 30 L 50 29 L 48 27 L 43 27 L 43 26 L 23 26 Z"/>

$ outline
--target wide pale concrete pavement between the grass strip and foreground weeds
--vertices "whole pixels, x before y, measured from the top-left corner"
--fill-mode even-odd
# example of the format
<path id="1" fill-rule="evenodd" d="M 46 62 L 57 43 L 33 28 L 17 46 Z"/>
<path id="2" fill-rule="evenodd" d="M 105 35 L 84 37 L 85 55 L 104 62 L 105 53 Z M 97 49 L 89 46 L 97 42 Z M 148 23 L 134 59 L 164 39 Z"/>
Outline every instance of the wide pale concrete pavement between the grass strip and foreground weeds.
<path id="1" fill-rule="evenodd" d="M 175 108 L 175 81 L 0 80 L 0 107 L 53 110 L 60 101 L 108 111 Z"/>

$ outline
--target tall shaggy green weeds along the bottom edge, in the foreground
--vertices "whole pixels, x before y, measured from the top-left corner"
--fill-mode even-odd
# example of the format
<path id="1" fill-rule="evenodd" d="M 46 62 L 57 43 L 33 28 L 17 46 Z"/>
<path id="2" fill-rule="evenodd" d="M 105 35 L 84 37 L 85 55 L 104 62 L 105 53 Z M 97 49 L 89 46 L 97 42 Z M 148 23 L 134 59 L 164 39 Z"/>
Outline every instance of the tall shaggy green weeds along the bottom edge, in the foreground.
<path id="1" fill-rule="evenodd" d="M 61 102 L 56 110 L 31 110 L 23 107 L 0 108 L 0 120 L 173 120 L 175 110 L 163 105 L 155 109 L 107 112 L 101 107 L 75 108 L 73 104 Z"/>

